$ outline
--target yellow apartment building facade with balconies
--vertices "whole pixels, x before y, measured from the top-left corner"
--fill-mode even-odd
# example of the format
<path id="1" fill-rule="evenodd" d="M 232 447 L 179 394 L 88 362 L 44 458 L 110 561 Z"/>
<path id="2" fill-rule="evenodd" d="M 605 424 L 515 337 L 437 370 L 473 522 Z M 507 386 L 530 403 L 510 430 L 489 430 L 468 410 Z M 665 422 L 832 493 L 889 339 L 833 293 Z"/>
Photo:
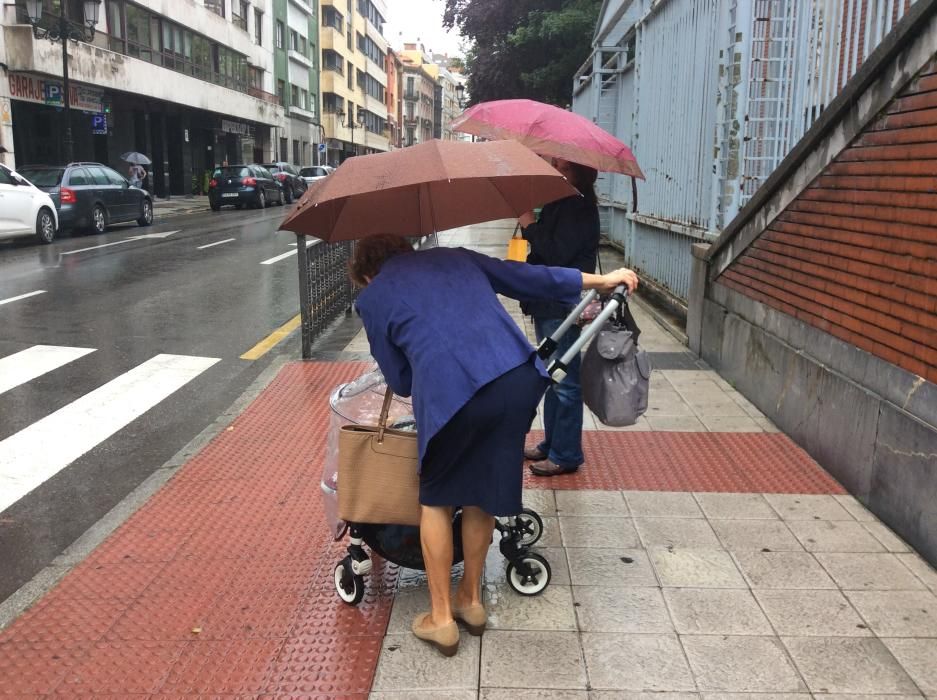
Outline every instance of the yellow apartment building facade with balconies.
<path id="1" fill-rule="evenodd" d="M 389 148 L 384 0 L 322 0 L 322 125 L 328 163 Z"/>

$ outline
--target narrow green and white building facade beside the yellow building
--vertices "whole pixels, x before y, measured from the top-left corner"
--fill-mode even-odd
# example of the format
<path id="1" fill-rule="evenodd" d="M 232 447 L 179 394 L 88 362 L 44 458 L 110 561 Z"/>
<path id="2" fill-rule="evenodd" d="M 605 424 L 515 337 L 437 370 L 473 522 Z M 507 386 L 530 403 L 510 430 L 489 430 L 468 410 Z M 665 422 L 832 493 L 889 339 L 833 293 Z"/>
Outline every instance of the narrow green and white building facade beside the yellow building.
<path id="1" fill-rule="evenodd" d="M 288 117 L 277 133 L 279 160 L 297 166 L 324 162 L 319 123 L 319 12 L 316 0 L 272 0 L 276 94 Z M 318 159 L 318 160 L 317 160 Z"/>

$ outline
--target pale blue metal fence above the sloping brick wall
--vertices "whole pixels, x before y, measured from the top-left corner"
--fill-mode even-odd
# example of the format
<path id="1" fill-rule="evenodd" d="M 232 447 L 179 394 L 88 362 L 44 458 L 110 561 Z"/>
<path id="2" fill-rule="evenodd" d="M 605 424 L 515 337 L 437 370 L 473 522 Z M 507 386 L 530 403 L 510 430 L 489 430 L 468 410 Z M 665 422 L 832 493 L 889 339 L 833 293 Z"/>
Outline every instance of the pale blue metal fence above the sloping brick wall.
<path id="1" fill-rule="evenodd" d="M 609 0 L 573 109 L 647 176 L 637 213 L 625 176 L 596 186 L 626 260 L 686 299 L 692 244 L 718 236 L 913 3 Z"/>

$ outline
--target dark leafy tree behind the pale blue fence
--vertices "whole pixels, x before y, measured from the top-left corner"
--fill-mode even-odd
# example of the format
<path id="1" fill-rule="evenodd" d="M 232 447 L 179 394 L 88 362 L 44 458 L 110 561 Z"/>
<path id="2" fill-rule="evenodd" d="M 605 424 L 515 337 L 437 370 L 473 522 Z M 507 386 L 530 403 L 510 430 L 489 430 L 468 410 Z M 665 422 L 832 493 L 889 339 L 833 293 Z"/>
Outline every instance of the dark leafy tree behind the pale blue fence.
<path id="1" fill-rule="evenodd" d="M 526 97 L 569 104 L 572 79 L 592 50 L 601 0 L 446 0 L 443 23 L 472 43 L 472 103 Z"/>

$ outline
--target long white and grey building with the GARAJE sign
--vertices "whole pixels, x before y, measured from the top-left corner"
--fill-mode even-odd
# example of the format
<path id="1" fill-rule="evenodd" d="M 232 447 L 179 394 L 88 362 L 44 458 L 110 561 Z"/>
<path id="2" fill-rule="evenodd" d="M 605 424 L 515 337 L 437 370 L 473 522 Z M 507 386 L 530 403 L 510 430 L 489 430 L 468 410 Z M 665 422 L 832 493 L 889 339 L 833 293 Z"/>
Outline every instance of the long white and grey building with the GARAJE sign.
<path id="1" fill-rule="evenodd" d="M 67 1 L 80 21 L 82 3 Z M 45 10 L 57 15 L 58 2 Z M 92 42 L 68 48 L 75 158 L 124 169 L 121 153 L 145 153 L 157 196 L 202 191 L 206 171 L 224 162 L 272 159 L 287 127 L 273 10 L 273 0 L 102 2 Z M 34 37 L 23 0 L 0 19 L 3 157 L 61 163 L 62 46 Z"/>

